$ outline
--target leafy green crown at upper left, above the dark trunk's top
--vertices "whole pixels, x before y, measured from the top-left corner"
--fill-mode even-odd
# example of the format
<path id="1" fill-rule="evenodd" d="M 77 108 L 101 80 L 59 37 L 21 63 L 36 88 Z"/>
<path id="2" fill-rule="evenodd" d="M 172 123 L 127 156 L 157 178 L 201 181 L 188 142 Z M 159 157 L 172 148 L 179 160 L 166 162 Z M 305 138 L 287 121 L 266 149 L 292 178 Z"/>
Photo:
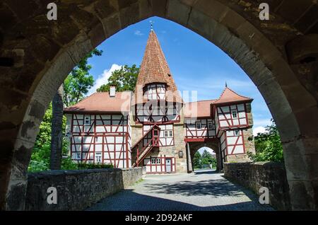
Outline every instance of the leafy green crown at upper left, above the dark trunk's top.
<path id="1" fill-rule="evenodd" d="M 89 89 L 94 85 L 93 75 L 90 74 L 92 66 L 88 64 L 88 59 L 93 56 L 102 55 L 102 51 L 93 50 L 86 55 L 71 71 L 64 81 L 64 105 L 69 107 L 75 105 L 85 98 Z"/>

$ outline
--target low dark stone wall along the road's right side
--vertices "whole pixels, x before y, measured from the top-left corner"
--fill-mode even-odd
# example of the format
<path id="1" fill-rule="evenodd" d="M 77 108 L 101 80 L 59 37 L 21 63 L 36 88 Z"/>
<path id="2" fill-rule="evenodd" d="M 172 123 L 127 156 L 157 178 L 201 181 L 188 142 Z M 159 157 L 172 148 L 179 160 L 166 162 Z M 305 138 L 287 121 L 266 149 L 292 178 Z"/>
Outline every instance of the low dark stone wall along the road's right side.
<path id="1" fill-rule="evenodd" d="M 259 193 L 269 188 L 269 204 L 278 210 L 290 210 L 289 186 L 283 163 L 224 163 L 224 176 Z"/>

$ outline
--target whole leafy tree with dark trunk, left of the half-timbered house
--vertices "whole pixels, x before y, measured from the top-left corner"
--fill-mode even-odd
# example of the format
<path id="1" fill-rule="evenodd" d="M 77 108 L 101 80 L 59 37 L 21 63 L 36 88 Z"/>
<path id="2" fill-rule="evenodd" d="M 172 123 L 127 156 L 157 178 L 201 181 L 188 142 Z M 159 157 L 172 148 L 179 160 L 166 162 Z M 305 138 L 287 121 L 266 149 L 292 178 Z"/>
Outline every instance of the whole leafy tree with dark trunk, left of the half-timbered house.
<path id="1" fill-rule="evenodd" d="M 92 67 L 88 64 L 88 59 L 93 57 L 93 55 L 100 56 L 101 54 L 102 51 L 99 50 L 93 50 L 87 54 L 66 78 L 64 82 L 64 106 L 78 103 L 78 101 L 82 100 L 86 93 L 88 93 L 89 88 L 93 86 L 94 79 L 93 76 L 89 74 Z M 61 91 L 61 89 L 59 89 L 59 91 Z M 61 93 L 59 93 L 59 96 L 61 96 Z M 54 115 L 52 116 L 52 104 L 50 104 L 40 125 L 40 132 L 37 134 L 28 168 L 29 171 L 46 171 L 49 169 L 50 164 L 52 164 L 52 166 L 57 165 L 52 167 L 54 169 L 78 168 L 76 164 L 71 161 L 71 158 L 63 158 L 61 160 L 61 151 L 63 154 L 67 154 L 69 144 L 63 134 L 66 126 L 66 117 L 62 117 L 63 126 L 60 129 L 63 105 L 61 102 L 57 103 L 56 100 L 57 99 L 54 98 L 52 102 L 54 105 Z M 59 100 L 61 100 L 61 98 L 59 98 Z M 57 158 L 54 158 L 54 156 Z M 52 163 L 50 163 L 51 161 Z"/>

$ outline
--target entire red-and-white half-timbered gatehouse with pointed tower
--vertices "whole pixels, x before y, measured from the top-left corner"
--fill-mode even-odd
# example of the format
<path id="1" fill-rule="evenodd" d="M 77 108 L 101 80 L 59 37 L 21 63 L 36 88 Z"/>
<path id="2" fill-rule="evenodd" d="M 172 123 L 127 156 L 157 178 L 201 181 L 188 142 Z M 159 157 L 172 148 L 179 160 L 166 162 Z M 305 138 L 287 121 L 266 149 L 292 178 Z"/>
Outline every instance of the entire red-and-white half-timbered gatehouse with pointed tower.
<path id="1" fill-rule="evenodd" d="M 134 93 L 94 93 L 64 109 L 73 161 L 143 166 L 147 173 L 192 171 L 194 154 L 208 146 L 218 169 L 249 161 L 254 152 L 252 98 L 227 86 L 220 98 L 184 103 L 151 30 Z"/>

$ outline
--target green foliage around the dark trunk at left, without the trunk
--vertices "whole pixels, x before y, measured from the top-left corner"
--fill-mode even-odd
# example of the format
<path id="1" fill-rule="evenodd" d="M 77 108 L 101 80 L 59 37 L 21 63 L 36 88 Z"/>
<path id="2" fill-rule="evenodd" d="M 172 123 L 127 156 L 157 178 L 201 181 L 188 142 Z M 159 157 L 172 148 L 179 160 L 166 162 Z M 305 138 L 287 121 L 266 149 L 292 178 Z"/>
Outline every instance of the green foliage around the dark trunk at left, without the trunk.
<path id="1" fill-rule="evenodd" d="M 88 64 L 88 59 L 93 55 L 100 56 L 102 51 L 93 50 L 79 62 L 64 81 L 64 105 L 70 106 L 78 103 L 88 93 L 90 87 L 94 84 L 93 76 L 89 74 L 92 66 Z M 63 117 L 63 131 L 66 127 L 66 117 Z M 52 103 L 49 104 L 43 121 L 40 125 L 40 131 L 37 134 L 35 146 L 31 156 L 28 171 L 47 171 L 49 170 L 50 151 L 51 151 L 51 132 L 52 132 Z M 63 134 L 65 135 L 65 134 Z M 78 169 L 77 163 L 74 163 L 69 156 L 69 140 L 64 138 L 62 143 L 63 158 L 61 168 L 63 170 Z M 97 166 L 100 168 L 100 166 Z"/>

